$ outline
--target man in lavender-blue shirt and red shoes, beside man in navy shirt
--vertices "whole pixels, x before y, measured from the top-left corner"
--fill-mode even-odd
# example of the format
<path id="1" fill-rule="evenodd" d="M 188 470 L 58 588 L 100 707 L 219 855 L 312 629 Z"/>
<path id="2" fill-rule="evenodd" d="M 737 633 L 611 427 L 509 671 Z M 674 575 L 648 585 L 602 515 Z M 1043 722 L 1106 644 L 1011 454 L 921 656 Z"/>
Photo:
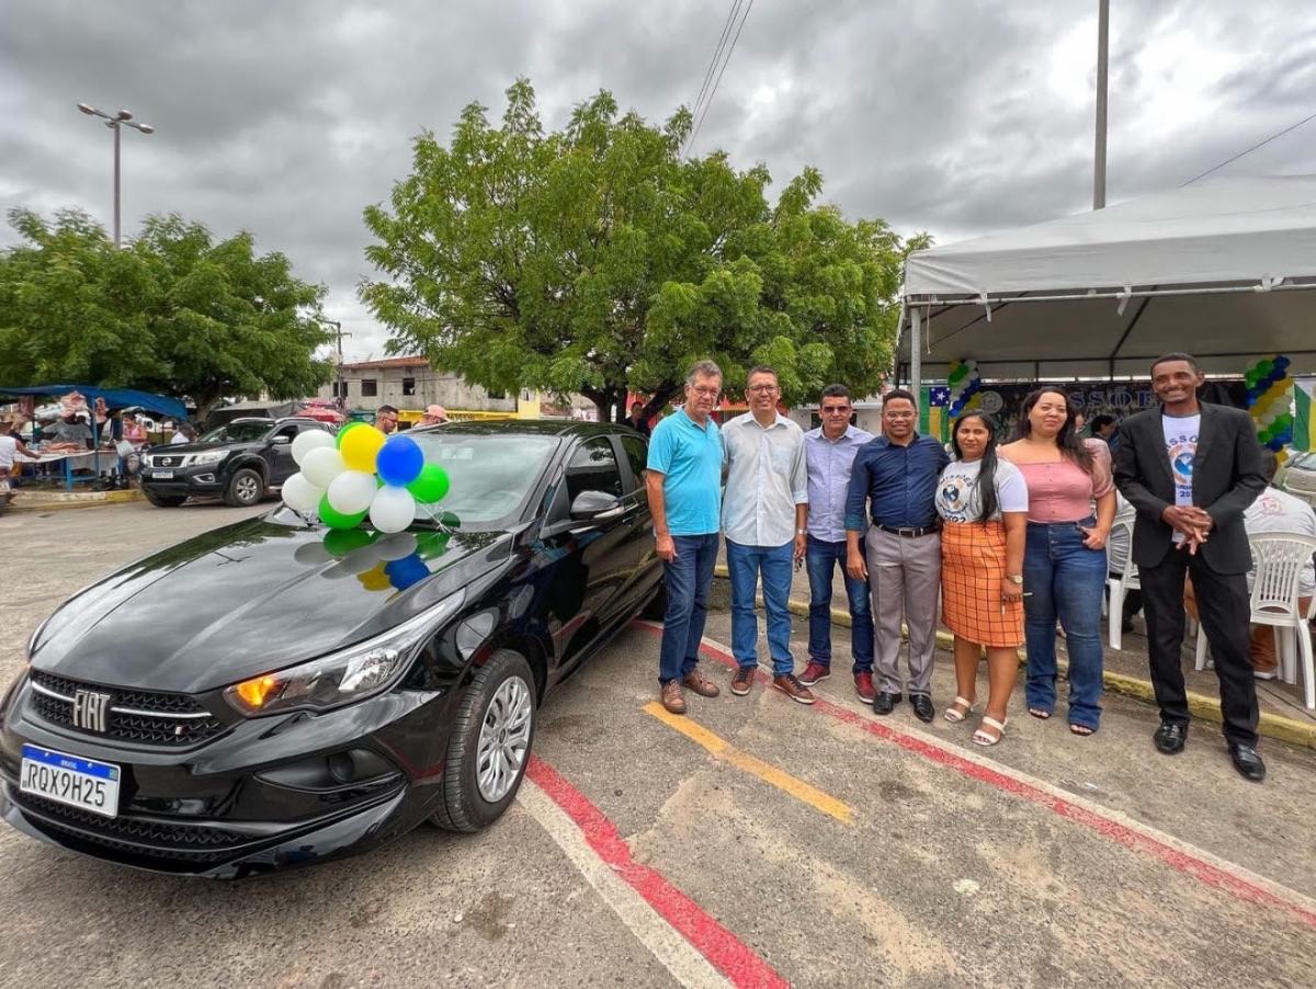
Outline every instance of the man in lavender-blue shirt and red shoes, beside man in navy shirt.
<path id="1" fill-rule="evenodd" d="M 804 434 L 804 458 L 809 472 L 809 523 L 805 566 L 809 572 L 809 664 L 800 683 L 813 687 L 832 676 L 832 583 L 841 564 L 845 596 L 850 605 L 850 654 L 854 658 L 854 689 L 873 704 L 873 608 L 869 585 L 845 571 L 845 500 L 850 491 L 854 455 L 874 435 L 850 425 L 854 406 L 850 389 L 829 384 L 819 401 L 822 425 Z"/>

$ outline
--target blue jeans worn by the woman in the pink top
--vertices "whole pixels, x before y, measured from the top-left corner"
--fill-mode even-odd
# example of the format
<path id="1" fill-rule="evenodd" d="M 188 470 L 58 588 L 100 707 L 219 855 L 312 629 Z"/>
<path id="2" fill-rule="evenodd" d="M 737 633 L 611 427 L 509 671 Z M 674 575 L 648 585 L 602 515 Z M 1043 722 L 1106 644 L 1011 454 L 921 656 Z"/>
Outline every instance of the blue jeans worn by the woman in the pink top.
<path id="1" fill-rule="evenodd" d="M 1024 638 L 1028 644 L 1028 706 L 1055 706 L 1055 619 L 1065 626 L 1070 656 L 1071 725 L 1096 730 L 1101 719 L 1101 589 L 1105 550 L 1083 546 L 1080 522 L 1029 522 L 1024 552 Z"/>

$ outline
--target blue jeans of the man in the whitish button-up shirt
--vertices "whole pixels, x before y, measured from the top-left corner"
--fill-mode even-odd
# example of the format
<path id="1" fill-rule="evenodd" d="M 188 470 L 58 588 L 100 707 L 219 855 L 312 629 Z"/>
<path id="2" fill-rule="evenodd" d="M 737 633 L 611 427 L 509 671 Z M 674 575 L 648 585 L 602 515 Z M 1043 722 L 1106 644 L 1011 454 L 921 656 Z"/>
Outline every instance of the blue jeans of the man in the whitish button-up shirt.
<path id="1" fill-rule="evenodd" d="M 791 658 L 791 564 L 795 541 L 786 546 L 742 546 L 726 541 L 726 569 L 732 573 L 732 655 L 742 669 L 758 664 L 758 621 L 754 589 L 763 576 L 763 610 L 767 612 L 767 648 L 772 676 L 795 672 Z"/>

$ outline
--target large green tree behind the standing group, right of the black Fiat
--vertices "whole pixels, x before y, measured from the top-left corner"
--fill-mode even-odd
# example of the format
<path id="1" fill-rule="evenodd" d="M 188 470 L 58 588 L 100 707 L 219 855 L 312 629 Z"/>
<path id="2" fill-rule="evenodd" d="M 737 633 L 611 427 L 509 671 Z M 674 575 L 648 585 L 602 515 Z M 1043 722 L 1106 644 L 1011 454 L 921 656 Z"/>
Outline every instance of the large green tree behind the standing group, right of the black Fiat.
<path id="1" fill-rule="evenodd" d="M 545 133 L 526 80 L 507 100 L 497 128 L 471 104 L 450 145 L 416 138 L 412 174 L 365 210 L 384 277 L 359 292 L 390 352 L 492 391 L 579 392 L 617 420 L 628 389 L 650 409 L 679 396 L 700 358 L 732 392 L 771 363 L 790 402 L 833 380 L 878 389 L 907 250 L 883 221 L 819 205 L 813 168 L 772 206 L 762 164 L 683 159 L 686 108 L 657 128 L 600 92 Z"/>

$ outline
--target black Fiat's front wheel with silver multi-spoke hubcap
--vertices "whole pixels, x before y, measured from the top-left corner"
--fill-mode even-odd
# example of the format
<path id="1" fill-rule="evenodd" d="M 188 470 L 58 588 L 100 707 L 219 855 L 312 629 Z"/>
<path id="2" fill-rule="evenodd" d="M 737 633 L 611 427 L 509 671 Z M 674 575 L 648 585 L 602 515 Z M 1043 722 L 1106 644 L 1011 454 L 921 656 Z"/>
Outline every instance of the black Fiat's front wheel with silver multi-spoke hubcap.
<path id="1" fill-rule="evenodd" d="M 430 823 L 470 832 L 503 815 L 530 761 L 534 702 L 534 673 L 521 654 L 499 650 L 475 671 L 457 709 L 443 798 Z"/>

